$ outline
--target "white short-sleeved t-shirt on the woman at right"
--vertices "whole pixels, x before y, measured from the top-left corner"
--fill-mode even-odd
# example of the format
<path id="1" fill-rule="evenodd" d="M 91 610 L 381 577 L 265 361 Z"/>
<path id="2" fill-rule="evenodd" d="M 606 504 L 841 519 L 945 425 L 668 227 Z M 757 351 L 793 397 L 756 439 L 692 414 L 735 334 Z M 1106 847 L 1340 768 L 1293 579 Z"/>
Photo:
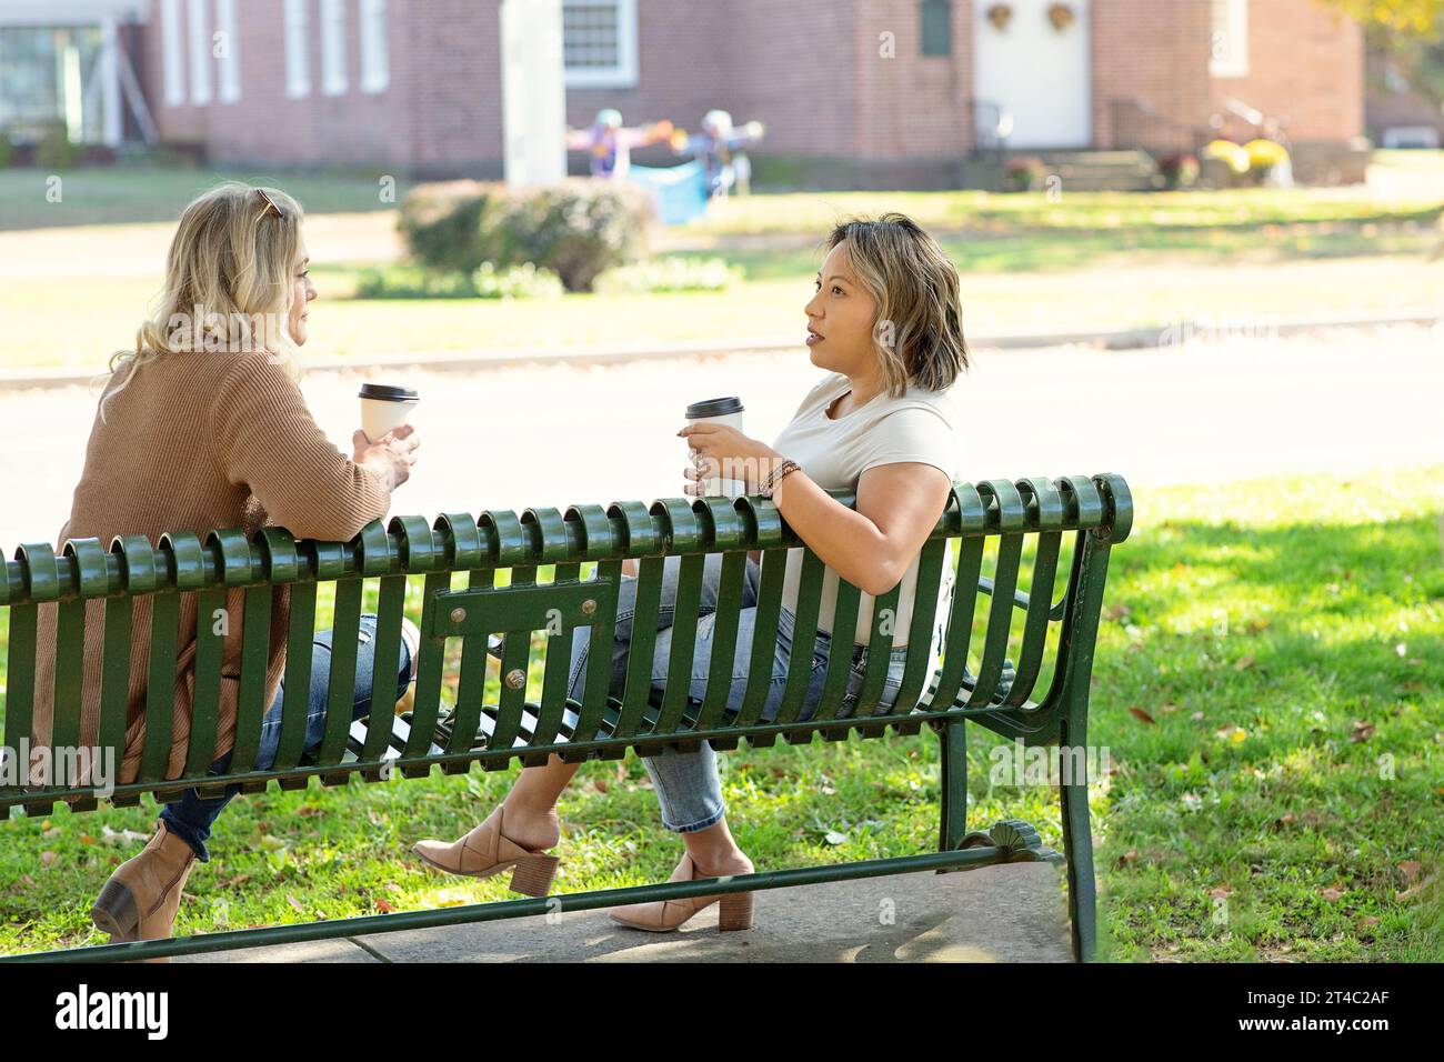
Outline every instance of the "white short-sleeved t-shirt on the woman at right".
<path id="1" fill-rule="evenodd" d="M 956 431 L 957 413 L 947 392 L 923 390 L 908 384 L 902 397 L 887 392 L 877 394 L 851 413 L 832 419 L 827 407 L 852 389 L 846 376 L 829 373 L 797 407 L 797 415 L 783 428 L 773 449 L 791 458 L 807 477 L 825 490 L 858 488 L 858 480 L 869 468 L 915 461 L 933 465 L 957 478 L 960 438 Z M 939 513 L 941 516 L 941 513 Z M 797 611 L 797 591 L 801 582 L 803 551 L 787 551 L 787 572 L 783 582 L 783 605 Z M 907 644 L 913 621 L 913 600 L 917 592 L 918 558 L 913 558 L 898 597 L 898 614 L 892 627 L 892 644 Z M 943 566 L 950 574 L 950 565 Z M 949 585 L 939 595 L 944 608 Z M 858 605 L 858 629 L 853 642 L 866 644 L 872 631 L 872 595 L 862 594 Z M 823 574 L 819 630 L 832 631 L 838 604 L 838 572 L 830 566 Z M 934 624 L 936 627 L 936 624 Z"/>

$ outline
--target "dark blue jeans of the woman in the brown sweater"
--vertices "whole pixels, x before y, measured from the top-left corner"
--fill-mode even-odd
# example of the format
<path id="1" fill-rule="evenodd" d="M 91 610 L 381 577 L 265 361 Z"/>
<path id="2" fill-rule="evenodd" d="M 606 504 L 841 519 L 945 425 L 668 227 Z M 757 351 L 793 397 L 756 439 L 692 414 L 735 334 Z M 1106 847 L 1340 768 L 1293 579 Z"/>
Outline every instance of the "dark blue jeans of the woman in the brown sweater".
<path id="1" fill-rule="evenodd" d="M 375 665 L 375 614 L 365 613 L 361 617 L 360 644 L 357 646 L 357 686 L 351 704 L 351 718 L 360 720 L 371 712 L 371 669 Z M 312 751 L 321 746 L 326 734 L 326 698 L 331 695 L 331 639 L 335 631 L 323 630 L 316 634 L 310 647 L 310 695 L 308 696 L 309 712 L 306 715 L 306 750 Z M 412 650 L 401 639 L 401 656 L 397 670 L 397 688 L 388 704 L 396 702 L 406 694 L 412 679 Z M 276 699 L 266 709 L 261 718 L 261 743 L 256 750 L 256 770 L 267 770 L 276 763 L 276 750 L 280 744 L 280 705 L 286 682 L 282 679 L 276 689 Z M 231 766 L 231 753 L 227 753 L 211 764 L 211 774 L 222 774 Z M 185 795 L 168 803 L 160 811 L 160 819 L 172 834 L 189 844 L 196 857 L 205 863 L 209 852 L 205 842 L 211 837 L 211 826 L 219 818 L 221 811 L 231 802 L 231 798 L 241 792 L 240 786 L 227 786 L 222 796 L 202 799 L 195 789 L 188 789 Z"/>

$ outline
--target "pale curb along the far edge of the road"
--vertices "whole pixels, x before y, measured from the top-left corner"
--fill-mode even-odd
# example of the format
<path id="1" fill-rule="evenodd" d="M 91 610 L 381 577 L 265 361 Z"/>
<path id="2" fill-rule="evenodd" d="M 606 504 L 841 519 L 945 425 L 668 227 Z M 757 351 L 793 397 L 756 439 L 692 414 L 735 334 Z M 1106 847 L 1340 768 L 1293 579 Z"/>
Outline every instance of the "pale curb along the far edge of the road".
<path id="1" fill-rule="evenodd" d="M 1314 328 L 1367 328 L 1378 325 L 1444 325 L 1444 311 L 1417 311 L 1412 314 L 1340 314 L 1326 316 L 1271 316 L 1268 314 L 1219 318 L 1214 315 L 1180 316 L 1177 321 L 1141 328 L 1119 328 L 1083 332 L 995 332 L 992 335 L 969 337 L 967 342 L 980 350 L 1027 350 L 1038 347 L 1089 345 L 1103 350 L 1142 350 L 1171 347 L 1187 342 L 1196 334 L 1206 335 L 1217 327 L 1219 331 L 1246 329 L 1258 335 L 1294 335 Z M 357 373 L 368 368 L 391 368 L 404 366 L 432 371 L 478 371 L 488 368 L 520 368 L 523 366 L 611 366 L 631 361 L 661 361 L 669 358 L 725 357 L 728 354 L 765 354 L 801 348 L 794 338 L 761 338 L 741 342 L 719 344 L 715 340 L 690 342 L 643 342 L 625 347 L 583 345 L 557 347 L 554 350 L 497 348 L 491 351 L 438 351 L 417 354 L 390 354 L 364 360 L 328 358 L 306 363 L 310 373 Z M 0 390 L 20 387 L 74 387 L 88 384 L 104 373 L 81 373 L 74 368 L 30 368 L 0 371 Z"/>

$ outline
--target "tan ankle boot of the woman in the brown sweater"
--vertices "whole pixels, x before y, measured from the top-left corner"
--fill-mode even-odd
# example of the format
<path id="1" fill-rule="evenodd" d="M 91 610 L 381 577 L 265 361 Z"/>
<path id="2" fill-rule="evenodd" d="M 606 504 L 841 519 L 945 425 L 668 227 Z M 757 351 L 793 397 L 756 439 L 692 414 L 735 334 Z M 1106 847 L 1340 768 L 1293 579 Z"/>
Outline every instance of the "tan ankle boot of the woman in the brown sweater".
<path id="1" fill-rule="evenodd" d="M 105 881 L 91 907 L 91 922 L 110 933 L 111 944 L 169 938 L 180 890 L 193 865 L 195 850 L 159 822 L 146 847 L 116 867 Z"/>

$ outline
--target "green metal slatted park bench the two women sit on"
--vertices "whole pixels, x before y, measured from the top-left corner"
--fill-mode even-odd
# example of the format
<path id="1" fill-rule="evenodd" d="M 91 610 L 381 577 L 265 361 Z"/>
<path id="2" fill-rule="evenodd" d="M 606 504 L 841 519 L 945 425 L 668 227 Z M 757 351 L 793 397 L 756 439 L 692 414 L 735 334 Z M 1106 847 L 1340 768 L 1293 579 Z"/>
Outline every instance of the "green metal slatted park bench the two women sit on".
<path id="1" fill-rule="evenodd" d="M 830 491 L 843 504 L 855 504 L 846 491 Z M 479 519 L 448 513 L 435 523 L 423 517 L 393 517 L 388 526 L 374 522 L 349 543 L 296 540 L 289 532 L 263 527 L 251 539 L 237 530 L 215 530 L 204 539 L 170 533 L 152 546 L 140 536 L 117 538 L 110 549 L 97 539 L 65 543 L 61 555 L 49 543 L 23 545 L 6 561 L 0 581 L 0 617 L 7 613 L 7 702 L 4 741 L 9 748 L 29 738 L 35 695 L 36 610 L 56 601 L 58 668 L 55 679 L 55 744 L 79 734 L 79 646 L 84 644 L 85 601 L 105 598 L 104 675 L 100 705 L 101 746 L 116 747 L 126 731 L 126 688 L 131 601 L 153 595 L 150 686 L 166 668 L 175 673 L 179 597 L 199 595 L 199 616 L 221 608 L 228 588 L 243 587 L 244 656 L 241 698 L 232 763 L 254 763 L 266 681 L 266 643 L 270 587 L 290 584 L 286 698 L 280 750 L 271 770 L 234 770 L 208 776 L 217 733 L 221 636 L 199 624 L 195 708 L 186 767 L 179 777 L 163 777 L 169 754 L 172 702 L 166 695 L 146 705 L 147 743 L 137 782 L 118 785 L 108 795 L 117 806 L 131 806 L 143 795 L 165 800 L 182 789 L 199 786 L 204 795 L 238 783 L 261 792 L 270 782 L 283 789 L 303 787 L 312 776 L 322 785 L 339 785 L 354 776 L 388 779 L 393 772 L 423 777 L 433 767 L 448 774 L 465 773 L 479 763 L 498 770 L 513 760 L 546 763 L 552 753 L 569 761 L 622 759 L 628 748 L 651 754 L 666 744 L 696 748 L 702 740 L 715 748 L 773 746 L 778 737 L 806 744 L 816 734 L 845 740 L 890 731 L 914 735 L 926 725 L 941 750 L 941 816 L 936 852 L 866 860 L 820 867 L 773 870 L 731 878 L 706 878 L 505 900 L 439 910 L 334 919 L 297 925 L 214 932 L 198 936 L 134 944 L 107 944 L 69 951 L 10 958 L 137 959 L 183 955 L 253 945 L 354 936 L 423 926 L 455 925 L 554 910 L 588 910 L 726 892 L 774 889 L 814 881 L 884 874 L 972 870 L 999 863 L 1064 863 L 1073 952 L 1080 961 L 1093 957 L 1095 884 L 1089 829 L 1087 777 L 1073 772 L 1060 785 L 1064 854 L 1045 847 L 1038 832 L 1018 819 L 995 824 L 988 832 L 966 825 L 967 722 L 979 724 L 1009 741 L 1074 750 L 1087 741 L 1089 681 L 1097 634 L 1109 549 L 1122 542 L 1132 524 L 1132 500 L 1116 475 L 1063 477 L 1056 481 L 1027 478 L 1017 483 L 989 480 L 976 487 L 954 484 L 947 510 L 923 546 L 917 598 L 908 631 L 907 663 L 891 708 L 878 708 L 888 653 L 871 653 L 855 709 L 843 714 L 851 657 L 838 653 L 827 665 L 825 691 L 816 712 L 799 721 L 810 672 L 810 653 L 793 657 L 784 696 L 775 718 L 760 718 L 770 678 L 770 660 L 783 579 L 781 556 L 801 542 L 781 520 L 771 501 L 760 497 L 670 498 L 602 507 L 579 504 L 565 513 L 529 509 L 487 511 Z M 1071 535 L 1070 535 L 1071 533 Z M 1069 548 L 1069 555 L 1064 553 Z M 752 676 L 742 708 L 725 711 L 729 665 L 736 644 L 736 617 L 749 551 L 761 551 L 760 588 Z M 696 613 L 703 564 L 722 555 L 722 584 L 713 633 L 712 673 L 706 696 L 689 696 L 687 676 L 695 644 L 695 624 L 680 621 Z M 1063 564 L 1060 565 L 1060 555 Z M 674 626 L 664 691 L 654 691 L 650 663 L 656 644 L 656 618 L 663 562 L 680 556 L 679 621 Z M 638 561 L 637 614 L 621 698 L 609 696 L 608 669 L 589 669 L 580 701 L 566 696 L 567 646 L 578 626 L 589 626 L 596 644 L 612 642 L 617 588 L 622 559 Z M 586 578 L 582 578 L 586 565 Z M 954 565 L 952 601 L 940 601 L 944 565 Z M 552 566 L 550 582 L 539 569 Z M 817 629 L 825 568 L 812 551 L 804 552 L 794 639 L 809 644 Z M 465 585 L 462 582 L 465 574 Z M 1019 587 L 1019 575 L 1028 578 Z M 510 578 L 498 579 L 498 575 Z M 370 718 L 352 722 L 355 646 L 362 585 L 378 582 L 375 613 L 377 662 L 400 655 L 400 629 L 410 578 L 423 582 L 422 647 L 414 704 L 404 717 L 383 698 Z M 458 584 L 453 588 L 453 577 Z M 329 688 L 326 735 L 313 754 L 305 740 L 306 698 L 310 683 L 310 642 L 318 590 L 334 584 L 336 631 Z M 1057 592 L 1058 584 L 1061 592 Z M 976 588 L 963 592 L 965 588 Z M 856 626 L 859 591 L 840 582 L 833 630 Z M 1057 600 L 1054 601 L 1054 597 Z M 898 588 L 875 601 L 872 640 L 890 644 L 887 618 L 895 614 Z M 939 605 L 947 621 L 941 653 L 934 656 Z M 1021 618 L 1019 618 L 1021 617 Z M 253 631 L 254 623 L 254 631 Z M 254 637 L 253 637 L 254 633 Z M 500 636 L 500 637 L 498 637 Z M 533 652 L 544 642 L 544 660 Z M 458 647 L 459 643 L 459 647 Z M 445 662 L 459 649 L 455 686 L 443 678 Z M 488 657 L 500 656 L 500 670 Z M 969 660 L 976 660 L 970 665 Z M 1011 685 L 1004 683 L 1005 662 L 1015 660 Z M 381 665 L 378 665 L 381 666 Z M 390 666 L 390 665 L 386 665 Z M 1044 681 L 1044 676 L 1045 681 Z M 377 676 L 375 688 L 388 679 Z M 527 689 L 540 682 L 540 701 L 529 702 Z M 170 683 L 163 681 L 160 689 Z M 487 704 L 490 691 L 495 702 Z M 293 694 L 293 691 L 300 691 Z M 443 696 L 446 694 L 446 696 Z M 448 702 L 448 699 L 451 702 Z M 150 740 L 156 728 L 160 740 Z M 250 753 L 250 759 L 247 759 Z M 92 789 L 0 787 L 0 811 L 49 813 L 56 803 L 72 812 L 98 806 Z"/>

